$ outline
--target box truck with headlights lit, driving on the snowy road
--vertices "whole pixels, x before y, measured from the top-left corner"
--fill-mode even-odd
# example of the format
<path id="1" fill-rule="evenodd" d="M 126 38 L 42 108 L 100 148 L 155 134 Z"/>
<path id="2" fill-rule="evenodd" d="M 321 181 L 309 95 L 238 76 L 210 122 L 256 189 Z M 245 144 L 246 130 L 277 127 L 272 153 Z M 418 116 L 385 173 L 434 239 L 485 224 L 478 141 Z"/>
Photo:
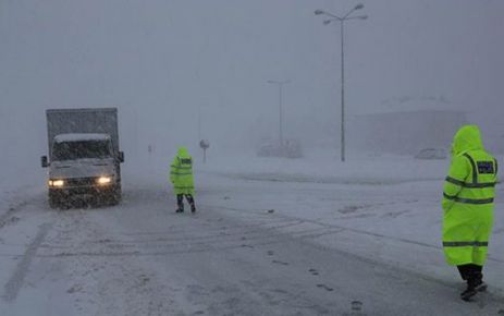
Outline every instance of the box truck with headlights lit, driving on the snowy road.
<path id="1" fill-rule="evenodd" d="M 46 111 L 49 159 L 49 206 L 94 198 L 100 204 L 121 200 L 118 109 L 50 109 Z"/>

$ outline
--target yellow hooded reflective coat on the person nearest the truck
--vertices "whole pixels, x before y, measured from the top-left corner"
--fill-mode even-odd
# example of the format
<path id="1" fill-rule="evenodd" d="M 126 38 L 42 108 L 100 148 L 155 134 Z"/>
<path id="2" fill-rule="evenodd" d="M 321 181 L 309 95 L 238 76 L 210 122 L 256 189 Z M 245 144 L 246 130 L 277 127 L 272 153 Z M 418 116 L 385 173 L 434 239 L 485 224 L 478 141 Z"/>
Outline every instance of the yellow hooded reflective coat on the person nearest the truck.
<path id="1" fill-rule="evenodd" d="M 180 147 L 170 167 L 173 193 L 194 195 L 193 157 L 185 147 Z"/>

